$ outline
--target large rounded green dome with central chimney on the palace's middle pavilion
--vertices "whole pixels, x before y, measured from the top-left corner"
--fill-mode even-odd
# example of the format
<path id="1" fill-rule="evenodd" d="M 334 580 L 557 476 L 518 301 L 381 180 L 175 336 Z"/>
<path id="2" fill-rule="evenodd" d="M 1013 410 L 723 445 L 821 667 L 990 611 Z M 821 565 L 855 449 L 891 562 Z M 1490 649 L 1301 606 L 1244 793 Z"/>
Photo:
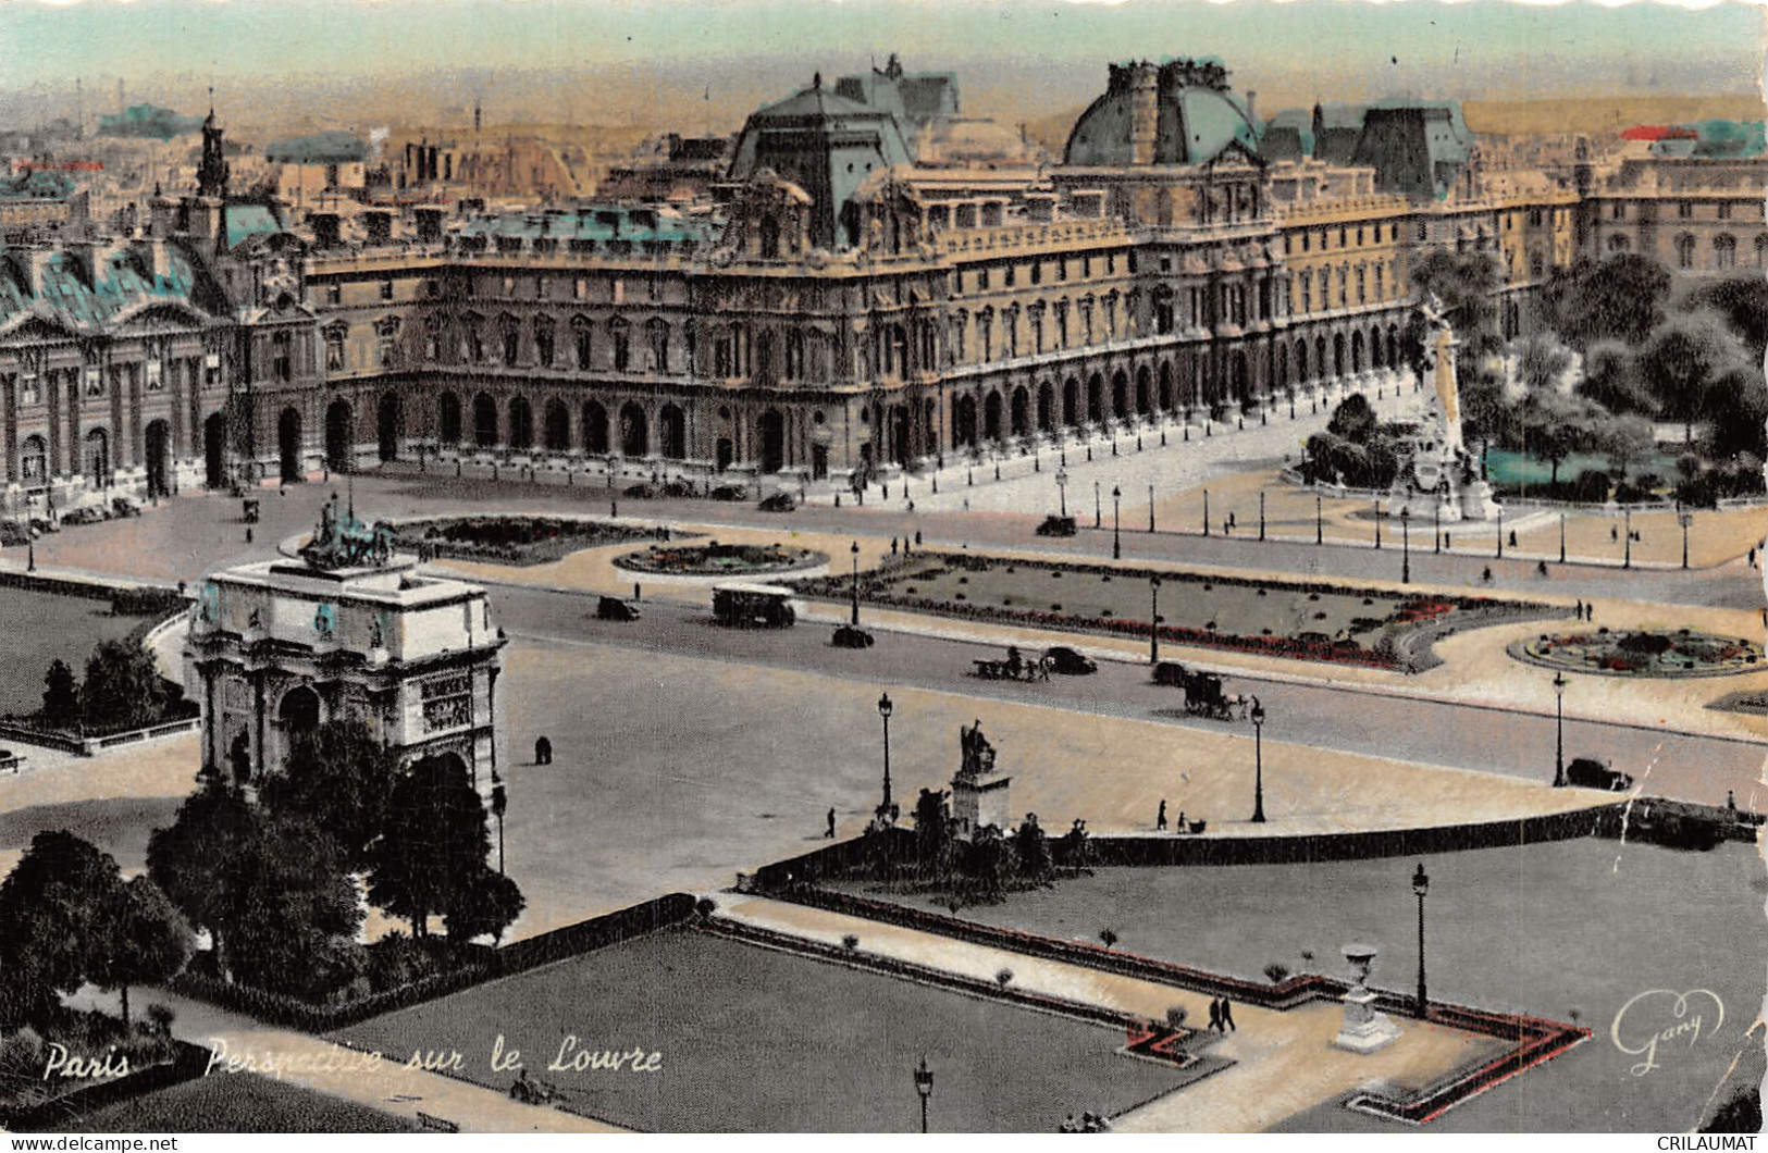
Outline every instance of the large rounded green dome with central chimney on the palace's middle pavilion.
<path id="1" fill-rule="evenodd" d="M 1140 131 L 1140 138 L 1139 138 Z M 1112 65 L 1105 95 L 1080 113 L 1066 164 L 1208 164 L 1232 149 L 1257 154 L 1259 131 L 1225 73 L 1190 62 Z"/>

